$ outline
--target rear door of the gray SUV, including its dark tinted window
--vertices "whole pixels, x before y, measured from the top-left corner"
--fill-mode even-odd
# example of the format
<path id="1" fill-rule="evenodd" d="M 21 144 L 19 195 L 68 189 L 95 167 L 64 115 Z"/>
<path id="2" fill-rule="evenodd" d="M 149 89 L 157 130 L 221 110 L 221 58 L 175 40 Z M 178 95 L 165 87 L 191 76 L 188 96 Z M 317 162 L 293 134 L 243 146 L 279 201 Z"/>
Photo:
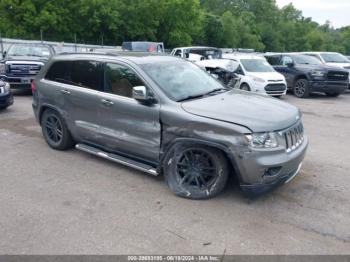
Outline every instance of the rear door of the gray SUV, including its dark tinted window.
<path id="1" fill-rule="evenodd" d="M 85 143 L 99 143 L 100 91 L 103 89 L 103 63 L 91 60 L 70 62 L 60 92 L 72 135 Z"/>

